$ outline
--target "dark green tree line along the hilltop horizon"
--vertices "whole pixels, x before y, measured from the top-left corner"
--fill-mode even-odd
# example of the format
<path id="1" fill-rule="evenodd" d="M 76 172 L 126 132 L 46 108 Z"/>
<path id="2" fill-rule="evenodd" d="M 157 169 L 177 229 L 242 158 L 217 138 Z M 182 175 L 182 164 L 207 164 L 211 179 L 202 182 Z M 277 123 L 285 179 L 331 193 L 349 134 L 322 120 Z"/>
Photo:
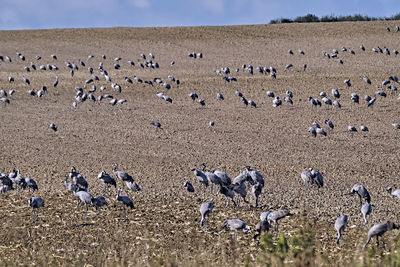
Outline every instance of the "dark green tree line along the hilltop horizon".
<path id="1" fill-rule="evenodd" d="M 348 15 L 348 16 L 322 16 L 317 17 L 314 14 L 307 14 L 305 16 L 298 16 L 294 19 L 290 18 L 278 18 L 273 19 L 269 24 L 281 24 L 281 23 L 309 23 L 309 22 L 338 22 L 338 21 L 374 21 L 374 20 L 400 20 L 400 13 L 391 17 L 369 17 L 360 14 Z"/>

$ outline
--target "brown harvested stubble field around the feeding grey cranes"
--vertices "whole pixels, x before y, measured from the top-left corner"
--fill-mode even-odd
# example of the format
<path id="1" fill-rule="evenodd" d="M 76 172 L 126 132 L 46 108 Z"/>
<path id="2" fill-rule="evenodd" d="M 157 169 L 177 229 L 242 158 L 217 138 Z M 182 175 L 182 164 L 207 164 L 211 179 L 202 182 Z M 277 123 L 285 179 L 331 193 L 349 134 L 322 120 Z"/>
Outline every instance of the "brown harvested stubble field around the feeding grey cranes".
<path id="1" fill-rule="evenodd" d="M 389 185 L 399 186 L 399 133 L 391 125 L 400 122 L 397 95 L 387 90 L 388 97 L 378 97 L 373 108 L 367 108 L 363 99 L 360 105 L 350 101 L 351 92 L 361 98 L 373 95 L 384 79 L 399 75 L 398 56 L 371 51 L 377 46 L 400 49 L 400 33 L 386 32 L 386 25 L 394 28 L 396 22 L 2 31 L 0 55 L 10 55 L 13 63 L 0 62 L 0 85 L 7 91 L 15 89 L 16 94 L 9 105 L 0 105 L 0 171 L 9 173 L 17 167 L 24 176 L 35 178 L 40 190 L 33 195 L 42 196 L 46 207 L 40 210 L 39 226 L 33 228 L 27 202 L 32 194 L 0 195 L 0 258 L 16 264 L 153 265 L 162 260 L 182 265 L 243 264 L 245 256 L 253 261 L 259 253 L 252 235 L 239 234 L 238 244 L 232 244 L 231 235 L 220 232 L 221 223 L 237 217 L 254 226 L 264 210 L 286 208 L 299 213 L 305 203 L 300 173 L 311 166 L 325 177 L 324 189 L 312 194 L 307 205 L 308 216 L 318 217 L 315 227 L 321 251 L 332 259 L 353 259 L 367 228 L 361 224 L 358 198 L 343 193 L 356 182 L 368 188 L 375 205 L 369 226 L 396 221 L 400 215 L 398 201 L 385 191 Z M 359 49 L 361 44 L 365 52 Z M 323 58 L 322 50 L 342 46 L 354 49 L 356 55 L 340 51 L 343 65 Z M 304 56 L 297 53 L 298 48 Z M 288 49 L 295 55 L 290 56 Z M 19 60 L 17 51 L 27 61 Z M 204 58 L 189 58 L 191 51 L 202 52 Z M 137 62 L 140 53 L 149 52 L 155 54 L 159 69 L 128 66 L 128 59 Z M 50 58 L 52 53 L 57 61 Z M 39 62 L 34 59 L 37 54 L 42 56 Z M 95 57 L 87 60 L 89 54 Z M 95 84 L 98 88 L 107 85 L 105 92 L 128 102 L 113 107 L 107 101 L 87 101 L 73 112 L 74 88 L 90 77 L 87 66 L 99 75 L 102 54 L 107 55 L 104 68 L 113 82 L 122 85 L 122 93 L 112 92 L 101 77 Z M 121 70 L 112 68 L 117 56 L 122 57 Z M 78 63 L 78 59 L 87 66 L 71 78 L 64 62 Z M 172 67 L 171 60 L 176 62 Z M 31 61 L 37 66 L 54 63 L 60 70 L 26 73 L 23 67 Z M 288 63 L 294 67 L 284 71 Z M 308 69 L 303 72 L 305 63 Z M 242 64 L 273 65 L 277 79 L 257 71 L 254 76 L 234 72 Z M 237 77 L 236 83 L 225 83 L 216 75 L 215 70 L 225 66 Z M 182 82 L 166 92 L 172 104 L 156 96 L 163 88 L 127 84 L 123 79 L 136 75 L 143 80 L 167 80 L 170 74 Z M 23 83 L 22 75 L 31 80 L 31 86 Z M 60 84 L 53 88 L 56 75 Z M 364 75 L 372 86 L 362 81 Z M 9 84 L 8 76 L 16 82 Z M 343 83 L 348 78 L 353 84 L 350 89 Z M 38 90 L 42 85 L 49 87 L 42 99 L 27 95 L 29 88 Z M 341 90 L 342 109 L 313 109 L 306 101 L 309 96 L 318 97 L 320 91 L 330 94 L 332 88 Z M 244 108 L 234 94 L 236 89 L 258 107 Z M 294 92 L 294 105 L 273 108 L 265 92 L 273 90 L 283 98 L 288 89 Z M 205 99 L 205 107 L 192 102 L 191 91 Z M 225 101 L 217 100 L 217 92 Z M 308 127 L 327 118 L 335 129 L 327 137 L 312 138 Z M 164 131 L 155 131 L 150 125 L 153 120 L 160 121 Z M 212 129 L 208 127 L 211 120 L 215 121 Z M 52 122 L 58 125 L 56 133 L 49 129 Z M 351 135 L 350 124 L 365 124 L 370 132 Z M 100 219 L 82 219 L 83 208 L 75 209 L 75 199 L 63 185 L 64 175 L 76 166 L 88 180 L 89 191 L 98 195 L 102 186 L 97 184 L 97 174 L 103 169 L 111 172 L 113 162 L 142 187 L 140 193 L 130 194 L 136 209 L 129 213 L 129 221 L 121 220 L 113 193 Z M 190 169 L 202 162 L 232 178 L 246 165 L 259 170 L 267 181 L 260 199 L 263 208 L 234 208 L 219 196 L 186 193 L 185 180 L 198 189 Z M 211 198 L 216 207 L 204 231 L 199 227 L 198 208 Z M 339 249 L 333 222 L 341 212 L 350 215 L 349 225 L 356 227 L 346 230 Z M 281 231 L 296 233 L 299 220 L 299 216 L 285 219 Z"/>

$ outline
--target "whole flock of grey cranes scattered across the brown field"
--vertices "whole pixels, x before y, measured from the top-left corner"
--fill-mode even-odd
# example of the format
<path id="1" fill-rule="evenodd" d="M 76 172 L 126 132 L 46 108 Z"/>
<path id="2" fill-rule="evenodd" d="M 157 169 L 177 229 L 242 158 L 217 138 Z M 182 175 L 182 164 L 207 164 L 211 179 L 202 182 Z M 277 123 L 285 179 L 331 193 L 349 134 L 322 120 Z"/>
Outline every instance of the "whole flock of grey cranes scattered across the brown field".
<path id="1" fill-rule="evenodd" d="M 365 47 L 363 45 L 360 46 L 360 51 L 365 52 Z M 386 47 L 381 49 L 380 47 L 373 48 L 372 51 L 376 53 L 382 53 L 386 55 L 390 55 L 390 50 Z M 294 52 L 292 50 L 289 50 L 288 53 L 290 55 L 293 55 Z M 300 55 L 305 55 L 305 52 L 301 49 L 298 50 L 298 53 Z M 322 51 L 322 54 L 325 58 L 328 59 L 337 59 L 337 61 L 340 64 L 344 64 L 343 59 L 340 58 L 340 53 L 350 53 L 351 55 L 355 55 L 356 52 L 352 49 L 348 49 L 346 47 L 341 48 L 341 52 L 338 50 L 334 49 L 332 50 L 332 53 L 328 53 L 327 51 Z M 397 55 L 398 51 L 393 50 L 393 54 Z M 22 61 L 26 61 L 26 57 L 20 53 L 17 52 L 18 58 Z M 56 62 L 57 56 L 52 54 L 51 59 Z M 155 61 L 155 56 L 150 53 L 147 57 L 144 54 L 140 55 L 141 60 L 137 61 L 135 63 L 132 60 L 128 60 L 128 63 L 132 67 L 139 67 L 139 68 L 148 68 L 148 69 L 157 69 L 160 67 L 159 63 Z M 188 54 L 188 57 L 190 58 L 203 58 L 203 54 L 201 52 L 191 52 Z M 90 61 L 94 58 L 93 55 L 89 55 L 87 60 Z M 102 55 L 101 56 L 102 60 L 106 60 L 106 56 Z M 41 60 L 41 56 L 36 56 L 35 59 L 37 61 Z M 121 64 L 119 63 L 121 60 L 120 57 L 114 58 L 114 63 L 113 63 L 113 68 L 115 70 L 121 69 Z M 9 62 L 12 63 L 13 60 L 11 59 L 10 56 L 0 56 L 0 61 L 1 62 Z M 85 62 L 82 60 L 78 60 L 79 63 L 75 64 L 74 62 L 66 61 L 65 66 L 70 72 L 71 78 L 74 77 L 75 72 L 82 69 L 86 68 Z M 24 66 L 24 71 L 26 73 L 31 73 L 33 71 L 58 71 L 59 67 L 55 63 L 49 63 L 49 64 L 43 64 L 40 65 L 39 67 L 36 66 L 33 62 L 30 64 Z M 171 67 L 175 64 L 175 61 L 171 61 L 170 65 Z M 290 71 L 290 69 L 294 68 L 292 64 L 287 64 L 284 68 L 284 71 Z M 302 67 L 302 71 L 307 70 L 307 65 L 304 64 Z M 268 75 L 271 77 L 271 79 L 277 79 L 278 76 L 278 71 L 277 68 L 274 66 L 259 66 L 254 68 L 250 64 L 243 64 L 242 68 L 236 68 L 236 73 L 238 72 L 248 72 L 250 75 L 255 75 L 256 72 L 260 73 L 261 75 Z M 105 99 L 108 99 L 108 102 L 110 105 L 115 106 L 115 105 L 122 105 L 123 103 L 127 102 L 126 99 L 121 98 L 121 97 L 116 97 L 116 95 L 120 96 L 120 94 L 123 91 L 123 87 L 125 85 L 132 84 L 134 82 L 136 83 L 143 83 L 146 84 L 147 86 L 150 87 L 156 87 L 159 90 L 156 93 L 156 96 L 167 102 L 172 104 L 173 99 L 169 97 L 168 91 L 174 86 L 174 87 L 179 87 L 181 85 L 181 82 L 179 79 L 176 79 L 173 75 L 168 75 L 166 79 L 161 79 L 159 77 L 154 77 L 154 79 L 150 80 L 145 80 L 143 81 L 141 78 L 137 76 L 133 77 L 124 77 L 124 84 L 118 84 L 116 82 L 113 82 L 114 77 L 111 77 L 109 72 L 105 69 L 103 62 L 99 63 L 98 66 L 98 73 L 95 72 L 95 70 L 92 67 L 87 67 L 87 74 L 89 75 L 89 78 L 85 80 L 84 84 L 80 87 L 77 86 L 76 93 L 74 95 L 74 100 L 72 102 L 72 107 L 74 110 L 78 108 L 79 105 L 82 103 L 86 102 L 87 100 L 92 101 L 93 103 L 100 103 L 104 101 Z M 236 77 L 231 76 L 231 70 L 229 67 L 222 67 L 220 69 L 216 70 L 216 74 L 222 76 L 223 80 L 226 83 L 234 83 L 237 81 Z M 99 86 L 97 84 L 97 81 L 100 81 L 100 79 L 106 81 L 106 84 Z M 28 89 L 28 95 L 31 96 L 37 96 L 39 98 L 45 97 L 47 94 L 49 87 L 48 85 L 43 85 L 40 90 L 35 91 L 32 89 L 31 86 L 31 80 L 24 75 L 22 75 L 21 80 L 26 84 L 26 86 L 29 88 Z M 366 87 L 372 86 L 371 80 L 367 77 L 364 76 L 362 77 L 362 80 L 365 82 Z M 8 77 L 8 82 L 10 84 L 13 84 L 16 82 L 16 78 L 10 76 Z M 55 80 L 52 84 L 53 88 L 56 88 L 60 84 L 59 77 L 56 75 Z M 398 84 L 400 84 L 399 79 L 397 76 L 392 75 L 388 77 L 388 79 L 382 81 L 382 83 L 379 85 L 381 87 L 381 90 L 376 91 L 376 93 L 373 96 L 365 95 L 364 96 L 364 101 L 365 101 L 365 107 L 366 108 L 372 108 L 374 105 L 376 105 L 377 102 L 379 102 L 379 98 L 385 98 L 388 95 L 397 92 L 397 87 Z M 344 85 L 347 88 L 352 87 L 352 82 L 350 79 L 346 79 L 344 81 Z M 111 88 L 113 93 L 103 93 L 104 90 L 107 88 Z M 389 91 L 387 91 L 389 90 Z M 387 91 L 387 92 L 385 92 Z M 5 105 L 11 103 L 11 99 L 13 95 L 15 94 L 15 90 L 11 89 L 8 92 L 5 90 L 0 90 L 0 100 L 5 103 Z M 99 93 L 97 97 L 95 96 L 96 93 Z M 114 95 L 113 95 L 114 94 Z M 240 99 L 240 101 L 244 104 L 245 107 L 253 107 L 257 108 L 257 104 L 255 100 L 251 100 L 245 97 L 245 95 L 239 91 L 235 91 L 235 95 Z M 282 99 L 273 91 L 267 91 L 266 92 L 267 97 L 272 99 L 272 106 L 277 108 L 283 104 L 288 104 L 288 105 L 294 105 L 293 101 L 293 95 L 294 93 L 291 90 L 287 90 L 285 92 L 285 96 L 283 96 L 283 101 Z M 339 89 L 332 89 L 331 90 L 331 98 L 328 96 L 328 94 L 324 91 L 320 92 L 319 97 L 312 97 L 310 96 L 308 98 L 308 102 L 313 108 L 318 108 L 321 107 L 322 105 L 326 106 L 332 106 L 335 108 L 341 108 L 342 104 L 339 102 L 341 99 L 343 93 L 340 92 Z M 189 94 L 189 98 L 193 101 L 197 101 L 200 106 L 205 106 L 206 101 L 204 98 L 200 98 L 199 95 L 196 92 L 191 92 Z M 352 92 L 349 94 L 349 100 L 353 104 L 361 104 L 360 98 L 357 93 Z M 398 95 L 398 99 L 400 100 L 400 95 Z M 217 100 L 218 101 L 224 101 L 225 97 L 222 95 L 222 93 L 217 93 Z M 334 122 L 331 121 L 330 119 L 326 119 L 324 123 L 329 127 L 330 130 L 333 130 L 335 128 Z M 162 125 L 160 122 L 157 121 L 152 121 L 150 123 L 151 125 L 155 126 L 156 129 L 162 130 Z M 214 122 L 210 122 L 210 126 L 214 126 Z M 400 129 L 400 124 L 393 122 L 392 126 L 395 129 Z M 50 124 L 50 128 L 53 131 L 57 131 L 58 127 L 55 123 Z M 357 127 L 353 125 L 349 125 L 347 127 L 349 132 L 357 132 Z M 359 127 L 361 132 L 368 132 L 369 128 L 366 125 L 360 125 Z M 313 136 L 316 137 L 317 135 L 322 135 L 322 136 L 327 136 L 327 131 L 324 130 L 321 125 L 314 121 L 312 123 L 312 126 L 308 128 L 308 132 Z M 261 196 L 264 188 L 264 178 L 263 175 L 261 175 L 260 172 L 252 169 L 250 166 L 246 167 L 243 171 L 240 172 L 238 176 L 236 176 L 234 179 L 231 179 L 227 173 L 215 169 L 209 169 L 207 170 L 207 165 L 203 164 L 201 169 L 192 169 L 191 170 L 194 173 L 194 176 L 196 178 L 196 181 L 199 183 L 200 187 L 198 191 L 202 191 L 203 195 L 206 194 L 207 188 L 210 188 L 211 194 L 214 192 L 214 187 L 217 187 L 217 194 L 220 194 L 223 196 L 226 201 L 232 202 L 235 207 L 240 207 L 241 201 L 243 201 L 245 204 L 247 204 L 249 207 L 253 206 L 254 208 L 259 208 L 259 197 Z M 123 208 L 123 215 L 126 217 L 126 208 L 134 209 L 134 203 L 132 199 L 127 196 L 127 195 L 122 195 L 122 189 L 120 187 L 117 188 L 118 183 L 122 183 L 127 190 L 127 192 L 138 192 L 141 190 L 139 185 L 135 183 L 135 179 L 129 175 L 126 172 L 119 171 L 118 170 L 118 165 L 114 164 L 113 166 L 113 175 L 114 177 L 107 173 L 106 171 L 101 171 L 98 175 L 98 181 L 104 184 L 104 195 L 107 193 L 110 193 L 110 190 L 112 187 L 116 190 L 116 196 L 115 199 L 118 201 L 118 203 L 121 204 Z M 304 182 L 304 190 L 305 192 L 308 192 L 312 190 L 312 188 L 316 187 L 317 190 L 319 191 L 324 187 L 324 179 L 323 175 L 321 172 L 319 172 L 316 169 L 310 168 L 307 170 L 304 170 L 301 174 L 300 177 L 302 181 Z M 24 178 L 18 169 L 14 169 L 9 175 L 0 173 L 0 193 L 6 193 L 10 190 L 13 189 L 29 189 L 36 191 L 38 190 L 38 185 L 36 181 L 32 178 Z M 73 195 L 78 199 L 76 207 L 79 207 L 79 205 L 82 203 L 85 205 L 85 214 L 84 217 L 86 218 L 87 216 L 87 211 L 89 206 L 93 206 L 97 210 L 97 215 L 99 216 L 101 214 L 101 209 L 108 204 L 107 199 L 105 196 L 93 196 L 88 192 L 89 189 L 89 184 L 86 181 L 86 179 L 82 176 L 81 173 L 79 173 L 75 167 L 71 168 L 71 171 L 69 172 L 68 175 L 65 177 L 65 186 L 66 188 L 73 193 Z M 183 184 L 185 190 L 187 190 L 190 193 L 195 192 L 195 187 L 192 185 L 190 181 L 185 181 Z M 111 188 L 111 189 L 110 189 Z M 200 189 L 202 188 L 202 189 Z M 246 199 L 248 195 L 248 190 L 250 189 L 251 195 L 253 196 L 254 199 L 254 204 L 251 205 L 251 203 Z M 391 187 L 387 188 L 388 193 L 393 196 L 400 198 L 400 189 L 397 189 L 393 191 Z M 368 216 L 372 213 L 372 204 L 371 204 L 371 197 L 367 189 L 361 185 L 361 184 L 355 184 L 353 188 L 350 190 L 348 193 L 350 195 L 357 194 L 360 198 L 360 212 L 363 216 L 363 223 L 367 224 L 368 223 Z M 37 214 L 38 210 L 41 207 L 44 207 L 44 199 L 41 197 L 31 197 L 29 199 L 29 205 L 33 209 L 33 223 L 36 224 L 37 221 Z M 208 224 L 208 218 L 211 216 L 212 211 L 214 208 L 214 201 L 207 201 L 203 202 L 200 205 L 200 225 L 204 226 L 205 224 Z M 255 226 L 255 232 L 256 234 L 254 235 L 255 239 L 258 239 L 260 235 L 264 232 L 268 232 L 271 224 L 273 223 L 275 226 L 275 233 L 278 234 L 278 222 L 282 220 L 283 218 L 287 216 L 292 216 L 294 215 L 292 212 L 288 210 L 274 210 L 274 211 L 266 211 L 262 212 L 260 214 L 260 221 L 257 223 Z M 345 214 L 341 214 L 335 221 L 334 223 L 334 228 L 337 231 L 337 243 L 340 245 L 340 241 L 342 239 L 342 234 L 343 231 L 345 230 L 347 223 L 349 221 L 349 216 Z M 232 219 L 227 219 L 223 222 L 222 228 L 226 229 L 231 229 L 234 230 L 234 238 L 236 239 L 237 231 L 243 231 L 243 232 L 249 232 L 252 231 L 252 228 L 247 225 L 243 220 L 237 219 L 237 218 L 232 218 Z M 391 229 L 399 229 L 399 226 L 393 222 L 383 222 L 380 224 L 375 224 L 373 225 L 370 230 L 367 233 L 367 240 L 364 244 L 365 246 L 370 242 L 371 238 L 376 237 L 378 245 L 379 245 L 379 237 L 381 237 L 385 232 L 391 230 Z"/>

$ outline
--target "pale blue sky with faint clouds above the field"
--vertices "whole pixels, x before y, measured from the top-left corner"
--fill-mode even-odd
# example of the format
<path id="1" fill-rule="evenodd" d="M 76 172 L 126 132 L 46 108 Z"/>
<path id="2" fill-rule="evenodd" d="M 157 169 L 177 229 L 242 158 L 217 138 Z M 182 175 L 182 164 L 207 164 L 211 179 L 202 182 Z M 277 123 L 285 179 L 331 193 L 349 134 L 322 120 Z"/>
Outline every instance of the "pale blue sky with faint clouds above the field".
<path id="1" fill-rule="evenodd" d="M 0 0 L 0 29 L 263 24 L 279 17 L 392 16 L 398 0 Z"/>

